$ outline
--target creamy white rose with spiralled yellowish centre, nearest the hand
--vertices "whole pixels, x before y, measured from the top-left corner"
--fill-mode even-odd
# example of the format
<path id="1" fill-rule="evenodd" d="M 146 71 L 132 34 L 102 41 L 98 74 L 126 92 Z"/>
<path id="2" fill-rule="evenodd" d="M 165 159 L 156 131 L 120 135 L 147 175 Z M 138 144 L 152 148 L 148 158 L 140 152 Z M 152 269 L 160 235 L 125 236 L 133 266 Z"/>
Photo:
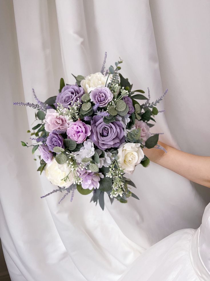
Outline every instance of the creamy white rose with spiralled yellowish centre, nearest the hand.
<path id="1" fill-rule="evenodd" d="M 144 157 L 140 144 L 123 143 L 118 148 L 119 164 L 124 172 L 133 174 L 135 166 L 138 165 Z"/>

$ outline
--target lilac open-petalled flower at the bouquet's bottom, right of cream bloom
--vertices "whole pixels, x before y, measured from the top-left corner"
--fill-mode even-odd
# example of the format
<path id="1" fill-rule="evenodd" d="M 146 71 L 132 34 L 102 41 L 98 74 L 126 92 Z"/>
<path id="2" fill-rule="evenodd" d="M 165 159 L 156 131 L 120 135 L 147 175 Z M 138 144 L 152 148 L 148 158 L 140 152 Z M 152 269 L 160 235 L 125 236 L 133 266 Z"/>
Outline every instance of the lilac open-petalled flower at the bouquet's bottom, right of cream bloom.
<path id="1" fill-rule="evenodd" d="M 81 186 L 84 189 L 96 189 L 99 188 L 99 181 L 104 178 L 102 173 L 94 173 L 89 170 L 78 170 L 79 177 L 82 179 Z"/>

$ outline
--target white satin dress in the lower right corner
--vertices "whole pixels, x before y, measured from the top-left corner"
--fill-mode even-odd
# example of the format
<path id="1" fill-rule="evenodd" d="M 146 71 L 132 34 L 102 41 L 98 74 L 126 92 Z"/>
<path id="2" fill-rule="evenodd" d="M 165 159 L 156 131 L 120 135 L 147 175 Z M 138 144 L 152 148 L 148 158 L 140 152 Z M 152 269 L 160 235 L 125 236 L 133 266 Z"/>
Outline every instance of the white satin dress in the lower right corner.
<path id="1" fill-rule="evenodd" d="M 198 229 L 181 229 L 147 249 L 119 281 L 209 281 L 210 203 Z"/>

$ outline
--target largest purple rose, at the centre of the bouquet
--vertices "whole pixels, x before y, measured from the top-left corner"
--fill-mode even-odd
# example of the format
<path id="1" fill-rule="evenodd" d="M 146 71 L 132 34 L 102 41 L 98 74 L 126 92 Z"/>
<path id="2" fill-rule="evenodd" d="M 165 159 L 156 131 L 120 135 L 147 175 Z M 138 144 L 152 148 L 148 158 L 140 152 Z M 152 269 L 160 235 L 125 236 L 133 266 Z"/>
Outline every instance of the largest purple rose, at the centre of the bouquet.
<path id="1" fill-rule="evenodd" d="M 94 116 L 91 120 L 91 134 L 93 143 L 100 149 L 119 147 L 125 142 L 123 124 L 120 121 L 106 124 L 100 116 Z"/>

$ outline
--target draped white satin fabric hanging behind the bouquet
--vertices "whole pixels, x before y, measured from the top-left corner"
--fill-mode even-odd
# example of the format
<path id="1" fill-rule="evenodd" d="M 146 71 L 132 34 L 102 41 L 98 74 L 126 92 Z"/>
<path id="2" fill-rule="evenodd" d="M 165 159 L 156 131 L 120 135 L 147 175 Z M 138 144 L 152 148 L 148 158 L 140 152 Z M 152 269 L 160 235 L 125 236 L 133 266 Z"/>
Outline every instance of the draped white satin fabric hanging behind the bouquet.
<path id="1" fill-rule="evenodd" d="M 160 1 L 159 13 L 165 2 Z M 153 132 L 164 132 L 161 140 L 174 147 L 179 147 L 178 140 L 181 149 L 208 155 L 209 57 L 203 41 L 195 44 L 192 40 L 191 48 L 187 40 L 179 39 L 185 38 L 187 28 L 191 30 L 194 18 L 189 16 L 187 23 L 186 17 L 182 19 L 185 30 L 175 19 L 167 21 L 166 27 L 167 17 L 171 19 L 173 12 L 184 9 L 186 16 L 187 4 L 193 12 L 198 7 L 196 1 L 188 0 L 184 7 L 181 0 L 170 2 L 170 14 L 161 15 L 166 29 L 163 33 L 161 24 L 158 27 L 155 1 L 150 3 L 153 22 L 148 0 L 0 1 L 0 236 L 11 280 L 118 280 L 144 249 L 173 231 L 199 227 L 209 192 L 197 191 L 185 178 L 153 163 L 148 168 L 138 166 L 132 176 L 140 201 L 130 198 L 126 205 L 115 202 L 111 206 L 107 198 L 102 211 L 89 203 L 91 194 L 75 193 L 72 203 L 67 197 L 60 205 L 62 194 L 40 199 L 53 186 L 36 172 L 29 148 L 20 146 L 20 141 L 29 137 L 26 131 L 32 127 L 34 111 L 12 105 L 13 101 L 34 102 L 32 87 L 45 101 L 57 94 L 60 77 L 70 84 L 75 82 L 71 73 L 100 71 L 107 51 L 107 67 L 120 56 L 124 60 L 122 74 L 129 77 L 135 89 L 149 87 L 155 100 L 163 93 L 161 77 L 164 88 L 169 88 L 167 119 L 164 113 L 159 114 Z M 199 1 L 203 15 L 210 11 L 207 2 Z M 180 26 L 170 34 L 169 27 L 176 23 Z M 209 28 L 207 20 L 199 24 L 195 34 Z M 153 25 L 162 59 L 161 75 Z M 173 49 L 173 36 L 180 43 L 181 54 Z M 205 40 L 202 36 L 200 39 Z M 201 60 L 196 60 L 198 54 Z M 185 55 L 189 61 L 184 63 Z M 164 103 L 159 109 L 164 109 Z"/>

